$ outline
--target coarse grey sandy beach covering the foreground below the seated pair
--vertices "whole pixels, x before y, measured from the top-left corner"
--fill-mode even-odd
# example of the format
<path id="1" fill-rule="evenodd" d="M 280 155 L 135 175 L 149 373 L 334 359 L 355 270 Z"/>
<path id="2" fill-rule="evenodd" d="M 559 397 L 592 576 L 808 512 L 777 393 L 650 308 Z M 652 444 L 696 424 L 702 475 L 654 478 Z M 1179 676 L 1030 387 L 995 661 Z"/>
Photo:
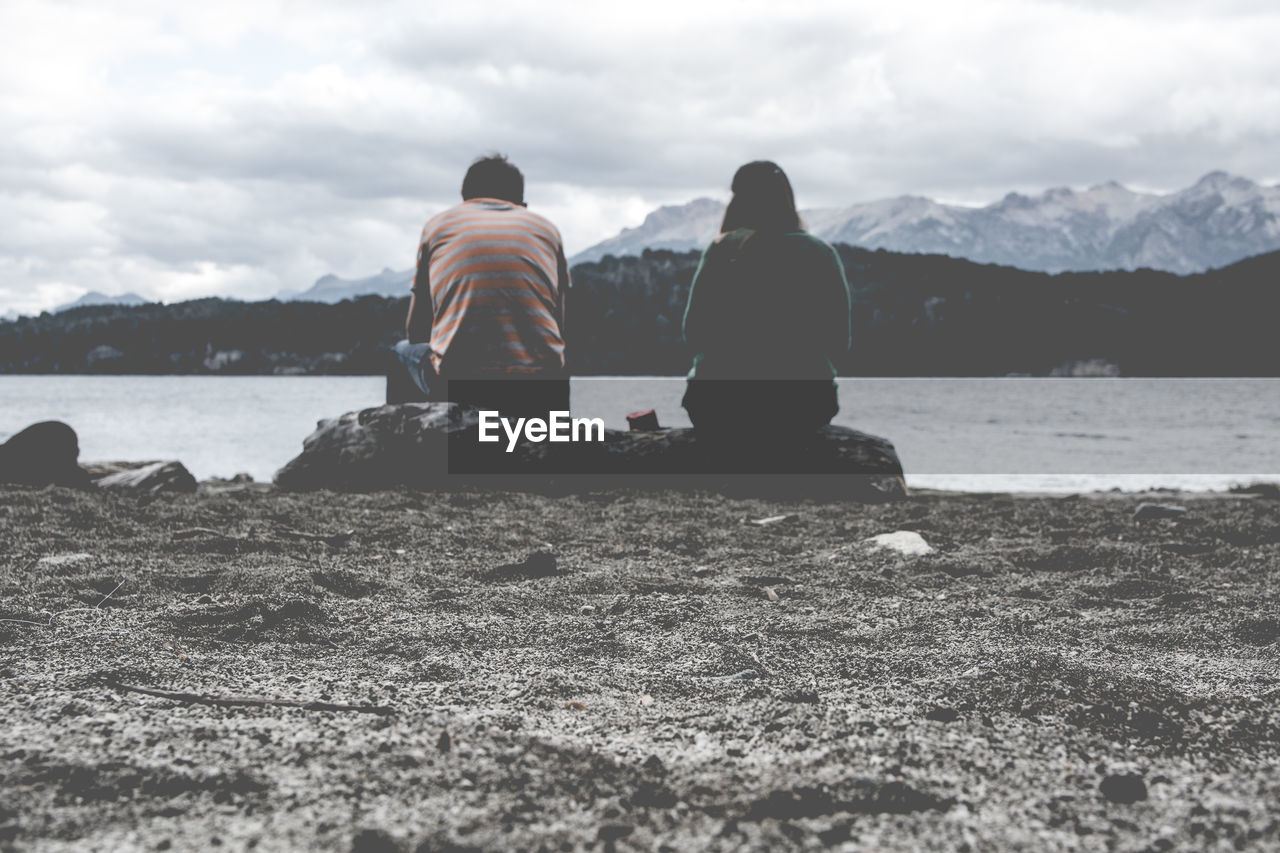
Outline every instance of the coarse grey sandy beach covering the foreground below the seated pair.
<path id="1" fill-rule="evenodd" d="M 0 487 L 0 844 L 1276 849 L 1277 570 L 1256 496 Z"/>

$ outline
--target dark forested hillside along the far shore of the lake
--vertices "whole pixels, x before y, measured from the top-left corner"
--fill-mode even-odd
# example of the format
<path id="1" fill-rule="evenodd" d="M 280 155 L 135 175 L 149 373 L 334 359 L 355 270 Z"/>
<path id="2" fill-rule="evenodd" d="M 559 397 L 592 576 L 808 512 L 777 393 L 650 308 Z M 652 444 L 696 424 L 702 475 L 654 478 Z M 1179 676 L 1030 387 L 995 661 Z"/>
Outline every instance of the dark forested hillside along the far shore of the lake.
<path id="1" fill-rule="evenodd" d="M 1088 361 L 1124 375 L 1280 375 L 1280 252 L 1187 277 L 1048 275 L 849 246 L 840 254 L 854 288 L 849 375 L 1044 375 Z M 575 266 L 575 373 L 684 373 L 691 353 L 681 318 L 696 265 L 696 252 L 646 251 Z M 786 283 L 778 288 L 781 297 Z M 0 323 L 0 371 L 381 373 L 406 304 L 366 296 L 72 309 Z"/>

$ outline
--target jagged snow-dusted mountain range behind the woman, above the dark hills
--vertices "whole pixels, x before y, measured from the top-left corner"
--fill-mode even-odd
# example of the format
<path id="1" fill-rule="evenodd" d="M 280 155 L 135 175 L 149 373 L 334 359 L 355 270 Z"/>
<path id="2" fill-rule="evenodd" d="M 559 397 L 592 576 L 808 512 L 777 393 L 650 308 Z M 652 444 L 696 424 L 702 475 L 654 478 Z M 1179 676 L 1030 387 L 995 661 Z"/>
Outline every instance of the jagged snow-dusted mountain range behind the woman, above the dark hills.
<path id="1" fill-rule="evenodd" d="M 710 199 L 659 207 L 572 263 L 645 248 L 701 248 L 716 236 L 723 211 Z M 984 207 L 900 196 L 801 215 L 809 231 L 829 242 L 1051 273 L 1143 266 L 1197 273 L 1280 248 L 1280 187 L 1224 172 L 1167 195 L 1108 182 L 1038 196 L 1011 192 Z"/>

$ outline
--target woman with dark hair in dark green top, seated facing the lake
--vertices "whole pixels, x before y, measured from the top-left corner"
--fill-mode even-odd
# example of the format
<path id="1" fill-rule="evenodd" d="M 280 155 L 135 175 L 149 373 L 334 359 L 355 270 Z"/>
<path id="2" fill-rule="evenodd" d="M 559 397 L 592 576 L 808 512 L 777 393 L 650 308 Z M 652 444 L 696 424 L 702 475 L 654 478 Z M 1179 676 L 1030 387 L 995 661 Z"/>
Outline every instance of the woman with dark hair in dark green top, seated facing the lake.
<path id="1" fill-rule="evenodd" d="M 836 251 L 804 231 L 774 163 L 733 175 L 721 234 L 694 274 L 684 406 L 701 433 L 808 432 L 831 421 L 850 297 Z"/>

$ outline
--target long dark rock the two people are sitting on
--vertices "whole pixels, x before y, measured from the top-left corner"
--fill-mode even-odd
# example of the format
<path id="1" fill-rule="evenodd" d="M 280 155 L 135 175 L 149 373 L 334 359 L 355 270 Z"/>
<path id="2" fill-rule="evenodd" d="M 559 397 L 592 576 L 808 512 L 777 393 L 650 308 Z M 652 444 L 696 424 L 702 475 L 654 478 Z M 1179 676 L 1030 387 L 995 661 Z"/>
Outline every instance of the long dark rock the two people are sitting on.
<path id="1" fill-rule="evenodd" d="M 904 497 L 893 446 L 823 426 L 787 446 L 703 447 L 694 429 L 604 430 L 603 442 L 477 441 L 479 412 L 457 403 L 379 406 L 323 420 L 275 484 L 288 491 L 497 487 L 516 489 L 699 488 L 782 491 L 800 497 Z M 500 430 L 499 430 L 500 432 Z M 762 439 L 763 441 L 763 439 Z M 751 476 L 742 476 L 751 474 Z"/>

